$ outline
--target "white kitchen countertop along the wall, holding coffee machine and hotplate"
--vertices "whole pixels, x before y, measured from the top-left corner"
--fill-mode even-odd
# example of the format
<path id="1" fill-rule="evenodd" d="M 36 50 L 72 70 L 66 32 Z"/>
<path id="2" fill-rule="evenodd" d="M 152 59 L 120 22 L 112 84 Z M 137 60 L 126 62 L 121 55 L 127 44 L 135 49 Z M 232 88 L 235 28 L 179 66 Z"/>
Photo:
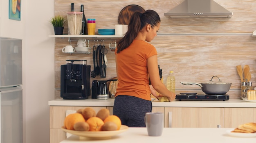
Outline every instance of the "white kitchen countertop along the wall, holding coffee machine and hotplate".
<path id="1" fill-rule="evenodd" d="M 49 106 L 113 106 L 115 99 L 98 100 L 51 100 L 48 102 Z M 225 101 L 179 101 L 159 102 L 155 100 L 152 102 L 153 107 L 247 107 L 256 108 L 256 102 L 246 102 L 241 99 L 229 99 Z"/>

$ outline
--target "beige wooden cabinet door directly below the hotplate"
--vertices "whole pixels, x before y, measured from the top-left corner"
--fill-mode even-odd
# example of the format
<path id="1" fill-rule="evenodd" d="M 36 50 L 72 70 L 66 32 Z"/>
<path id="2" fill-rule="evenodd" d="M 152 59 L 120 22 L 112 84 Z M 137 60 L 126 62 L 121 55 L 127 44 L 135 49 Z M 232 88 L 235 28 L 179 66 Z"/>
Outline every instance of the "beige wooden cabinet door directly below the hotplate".
<path id="1" fill-rule="evenodd" d="M 222 128 L 224 128 L 224 108 L 165 108 L 165 127 L 217 128 L 217 125 L 220 125 Z"/>

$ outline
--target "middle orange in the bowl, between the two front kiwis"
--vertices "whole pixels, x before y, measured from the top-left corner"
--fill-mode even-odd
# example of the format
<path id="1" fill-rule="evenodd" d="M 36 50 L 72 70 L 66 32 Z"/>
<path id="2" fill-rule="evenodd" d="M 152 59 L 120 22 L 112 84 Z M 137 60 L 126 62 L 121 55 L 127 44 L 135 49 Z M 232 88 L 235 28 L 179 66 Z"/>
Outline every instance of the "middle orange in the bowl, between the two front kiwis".
<path id="1" fill-rule="evenodd" d="M 89 124 L 90 129 L 89 131 L 101 131 L 101 127 L 103 126 L 104 122 L 99 117 L 90 117 L 86 123 Z"/>

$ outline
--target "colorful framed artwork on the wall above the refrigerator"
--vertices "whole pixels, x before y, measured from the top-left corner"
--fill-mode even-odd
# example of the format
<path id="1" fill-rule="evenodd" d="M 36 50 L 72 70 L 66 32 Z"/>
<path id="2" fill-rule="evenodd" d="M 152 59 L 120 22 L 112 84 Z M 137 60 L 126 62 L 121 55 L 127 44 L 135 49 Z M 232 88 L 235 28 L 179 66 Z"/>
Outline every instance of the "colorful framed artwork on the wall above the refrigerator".
<path id="1" fill-rule="evenodd" d="M 9 19 L 20 21 L 20 0 L 9 0 Z"/>

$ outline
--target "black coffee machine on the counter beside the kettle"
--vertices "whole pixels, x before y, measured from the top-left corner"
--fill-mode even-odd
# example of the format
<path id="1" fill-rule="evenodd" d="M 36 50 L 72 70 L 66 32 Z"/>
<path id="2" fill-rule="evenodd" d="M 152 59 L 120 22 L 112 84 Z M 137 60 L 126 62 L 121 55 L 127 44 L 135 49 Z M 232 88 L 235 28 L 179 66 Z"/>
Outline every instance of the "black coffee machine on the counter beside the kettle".
<path id="1" fill-rule="evenodd" d="M 61 97 L 67 100 L 88 99 L 91 66 L 86 60 L 66 60 L 61 65 Z"/>

